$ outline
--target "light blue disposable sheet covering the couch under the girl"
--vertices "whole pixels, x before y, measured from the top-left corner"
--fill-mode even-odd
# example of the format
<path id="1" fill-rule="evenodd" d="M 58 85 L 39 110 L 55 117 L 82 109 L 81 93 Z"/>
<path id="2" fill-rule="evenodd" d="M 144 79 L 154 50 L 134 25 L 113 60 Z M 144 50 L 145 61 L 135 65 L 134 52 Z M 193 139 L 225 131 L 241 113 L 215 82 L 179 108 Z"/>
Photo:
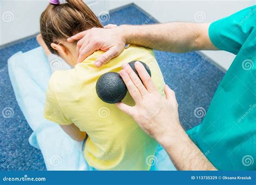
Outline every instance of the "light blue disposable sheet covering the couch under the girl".
<path id="1" fill-rule="evenodd" d="M 44 119 L 45 92 L 51 68 L 42 47 L 18 52 L 8 60 L 9 76 L 19 107 L 33 130 L 29 143 L 41 149 L 48 170 L 92 170 L 87 165 L 82 142 L 73 141 L 62 129 Z M 157 149 L 151 170 L 176 170 L 165 150 Z"/>

